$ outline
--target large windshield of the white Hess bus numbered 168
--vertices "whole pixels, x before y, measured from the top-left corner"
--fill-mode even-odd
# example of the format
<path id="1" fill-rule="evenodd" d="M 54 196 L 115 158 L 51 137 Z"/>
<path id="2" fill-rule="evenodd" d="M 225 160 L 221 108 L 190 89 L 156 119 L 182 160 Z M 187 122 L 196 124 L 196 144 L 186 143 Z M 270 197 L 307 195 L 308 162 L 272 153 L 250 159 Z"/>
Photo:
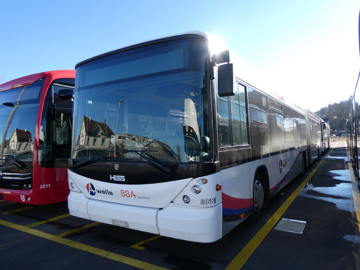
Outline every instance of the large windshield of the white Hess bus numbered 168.
<path id="1" fill-rule="evenodd" d="M 205 42 L 187 38 L 77 67 L 72 158 L 208 161 L 206 59 Z"/>

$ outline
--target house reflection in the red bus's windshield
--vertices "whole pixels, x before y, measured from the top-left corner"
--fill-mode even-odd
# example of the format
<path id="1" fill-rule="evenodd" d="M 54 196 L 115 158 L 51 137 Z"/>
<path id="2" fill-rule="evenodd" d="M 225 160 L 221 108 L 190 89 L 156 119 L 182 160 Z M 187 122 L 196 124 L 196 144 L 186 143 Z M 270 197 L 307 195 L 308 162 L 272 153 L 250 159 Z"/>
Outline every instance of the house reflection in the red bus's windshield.
<path id="1" fill-rule="evenodd" d="M 34 143 L 31 139 L 31 132 L 27 129 L 14 129 L 9 140 L 5 140 L 5 153 L 27 153 L 33 152 Z"/>

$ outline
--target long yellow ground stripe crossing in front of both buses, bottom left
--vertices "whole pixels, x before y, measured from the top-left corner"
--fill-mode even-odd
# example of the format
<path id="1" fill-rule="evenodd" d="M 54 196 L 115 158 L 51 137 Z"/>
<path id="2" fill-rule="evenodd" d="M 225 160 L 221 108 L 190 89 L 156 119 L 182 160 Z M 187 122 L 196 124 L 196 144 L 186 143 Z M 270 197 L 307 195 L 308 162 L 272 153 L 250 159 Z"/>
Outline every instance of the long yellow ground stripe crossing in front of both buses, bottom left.
<path id="1" fill-rule="evenodd" d="M 167 270 L 167 268 L 149 264 L 148 262 L 143 262 L 140 260 L 129 258 L 129 257 L 123 256 L 123 255 L 117 254 L 117 253 L 113 253 L 110 251 L 106 251 L 104 249 L 92 247 L 92 246 L 89 246 L 86 244 L 78 243 L 78 242 L 75 242 L 75 241 L 72 241 L 72 240 L 69 240 L 66 238 L 61 238 L 61 237 L 58 237 L 57 235 L 45 233 L 43 231 L 35 230 L 32 228 L 27 228 L 25 226 L 21 226 L 21 225 L 18 225 L 18 224 L 9 222 L 9 221 L 0 219 L 0 225 L 7 226 L 7 227 L 10 227 L 15 230 L 23 231 L 28 234 L 36 235 L 38 237 L 42 237 L 42 238 L 45 238 L 45 239 L 48 239 L 48 240 L 51 240 L 51 241 L 54 241 L 54 242 L 57 242 L 60 244 L 64 244 L 69 247 L 77 248 L 82 251 L 90 252 L 90 253 L 105 257 L 105 258 L 109 258 L 114 261 L 122 262 L 123 264 L 135 266 L 140 269 Z"/>

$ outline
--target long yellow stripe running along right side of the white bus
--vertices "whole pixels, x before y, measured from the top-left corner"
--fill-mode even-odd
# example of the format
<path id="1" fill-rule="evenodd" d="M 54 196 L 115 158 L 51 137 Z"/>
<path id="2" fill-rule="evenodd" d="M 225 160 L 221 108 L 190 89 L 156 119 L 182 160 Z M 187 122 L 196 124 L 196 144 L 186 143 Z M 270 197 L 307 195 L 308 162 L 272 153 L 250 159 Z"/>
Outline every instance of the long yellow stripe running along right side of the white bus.
<path id="1" fill-rule="evenodd" d="M 294 201 L 296 196 L 301 192 L 307 182 L 310 181 L 311 177 L 314 176 L 315 172 L 319 169 L 321 164 L 325 161 L 325 158 L 329 156 L 331 151 L 336 147 L 338 143 L 330 150 L 330 152 L 321 159 L 319 164 L 310 172 L 306 179 L 298 186 L 298 188 L 290 195 L 289 198 L 279 207 L 279 209 L 274 213 L 273 216 L 266 222 L 264 226 L 257 232 L 257 234 L 246 244 L 246 246 L 239 252 L 239 254 L 230 262 L 230 264 L 225 268 L 225 270 L 238 270 L 240 269 L 248 258 L 252 255 L 258 245 L 264 240 L 266 235 L 270 232 L 271 229 L 275 226 L 276 222 L 280 219 L 283 213 L 287 210 L 290 204 Z"/>

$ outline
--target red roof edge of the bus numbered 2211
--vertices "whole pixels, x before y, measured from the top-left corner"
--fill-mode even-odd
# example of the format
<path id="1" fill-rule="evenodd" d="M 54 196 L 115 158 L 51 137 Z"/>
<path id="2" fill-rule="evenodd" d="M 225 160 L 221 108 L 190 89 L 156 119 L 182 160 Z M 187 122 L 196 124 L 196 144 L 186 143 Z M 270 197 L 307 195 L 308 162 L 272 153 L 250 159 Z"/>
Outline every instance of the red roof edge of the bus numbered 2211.
<path id="1" fill-rule="evenodd" d="M 17 78 L 8 82 L 5 82 L 4 84 L 0 85 L 0 91 L 5 91 L 9 89 L 13 89 L 16 87 L 21 87 L 25 85 L 32 84 L 36 82 L 37 80 L 41 79 L 42 77 L 45 77 L 46 75 L 61 75 L 61 77 L 69 77 L 69 78 L 75 78 L 75 70 L 53 70 L 53 71 L 45 71 L 40 72 L 32 75 L 27 75 L 21 78 Z M 65 78 L 64 77 L 64 78 Z"/>

